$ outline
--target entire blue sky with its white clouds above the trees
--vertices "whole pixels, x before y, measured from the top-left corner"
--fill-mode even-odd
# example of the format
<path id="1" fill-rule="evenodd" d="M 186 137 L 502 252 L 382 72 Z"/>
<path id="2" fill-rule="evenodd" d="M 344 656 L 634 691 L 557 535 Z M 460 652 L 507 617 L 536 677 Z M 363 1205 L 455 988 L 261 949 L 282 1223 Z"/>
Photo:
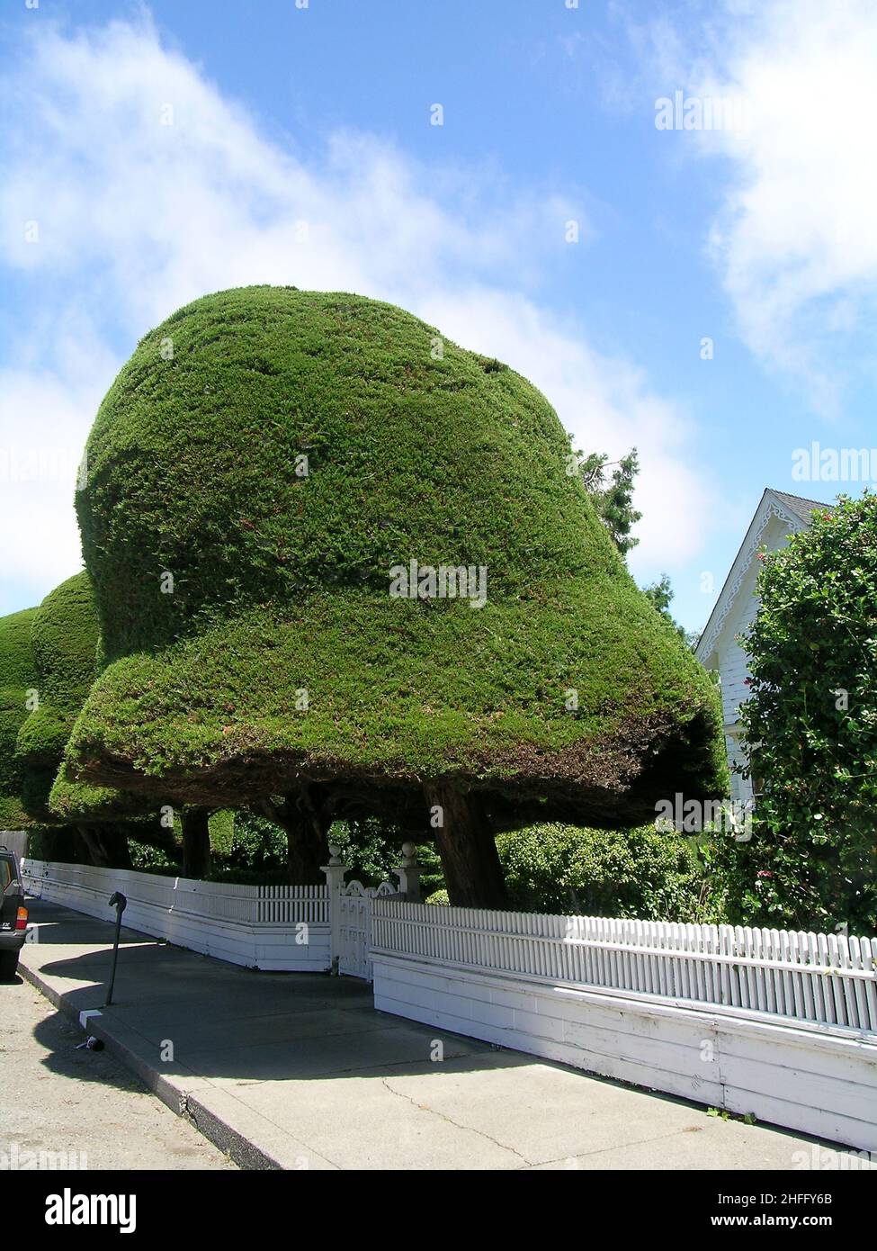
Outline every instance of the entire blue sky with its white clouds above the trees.
<path id="1" fill-rule="evenodd" d="M 246 281 L 392 299 L 636 444 L 689 629 L 763 487 L 841 489 L 796 448 L 877 445 L 873 0 L 10 0 L 0 40 L 0 613 L 79 567 L 136 340 Z M 677 91 L 744 121 L 659 130 Z"/>

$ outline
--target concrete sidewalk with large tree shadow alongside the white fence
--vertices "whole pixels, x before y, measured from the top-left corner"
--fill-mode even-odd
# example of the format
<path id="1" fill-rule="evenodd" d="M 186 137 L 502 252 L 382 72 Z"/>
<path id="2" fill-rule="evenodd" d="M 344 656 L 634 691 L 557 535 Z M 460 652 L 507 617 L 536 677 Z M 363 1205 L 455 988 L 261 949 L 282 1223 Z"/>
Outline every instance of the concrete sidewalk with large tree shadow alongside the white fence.
<path id="1" fill-rule="evenodd" d="M 243 1167 L 787 1170 L 833 1155 L 377 1012 L 365 982 L 260 973 L 130 929 L 101 1008 L 113 924 L 29 907 L 23 975 L 73 1016 L 101 1010 L 89 1033 Z"/>

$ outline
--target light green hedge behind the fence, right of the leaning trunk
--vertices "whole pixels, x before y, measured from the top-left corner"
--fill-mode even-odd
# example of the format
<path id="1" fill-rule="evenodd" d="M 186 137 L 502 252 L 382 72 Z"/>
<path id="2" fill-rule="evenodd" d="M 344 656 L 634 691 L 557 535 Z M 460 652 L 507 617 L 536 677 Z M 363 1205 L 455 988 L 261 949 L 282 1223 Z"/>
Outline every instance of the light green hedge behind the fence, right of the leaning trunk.
<path id="1" fill-rule="evenodd" d="M 642 921 L 714 919 L 692 841 L 637 829 L 532 826 L 497 839 L 509 903 L 523 912 Z"/>

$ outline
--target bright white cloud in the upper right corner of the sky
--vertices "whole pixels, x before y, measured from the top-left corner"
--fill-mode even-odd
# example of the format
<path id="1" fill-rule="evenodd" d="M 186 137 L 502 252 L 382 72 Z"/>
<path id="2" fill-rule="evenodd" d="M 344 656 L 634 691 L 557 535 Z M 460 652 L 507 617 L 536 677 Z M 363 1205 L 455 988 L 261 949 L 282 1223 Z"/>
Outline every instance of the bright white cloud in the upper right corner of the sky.
<path id="1" fill-rule="evenodd" d="M 877 322 L 877 3 L 726 0 L 709 14 L 697 46 L 691 24 L 652 31 L 658 94 L 742 99 L 749 123 L 661 138 L 729 161 L 708 243 L 741 333 L 831 410 L 852 337 Z"/>

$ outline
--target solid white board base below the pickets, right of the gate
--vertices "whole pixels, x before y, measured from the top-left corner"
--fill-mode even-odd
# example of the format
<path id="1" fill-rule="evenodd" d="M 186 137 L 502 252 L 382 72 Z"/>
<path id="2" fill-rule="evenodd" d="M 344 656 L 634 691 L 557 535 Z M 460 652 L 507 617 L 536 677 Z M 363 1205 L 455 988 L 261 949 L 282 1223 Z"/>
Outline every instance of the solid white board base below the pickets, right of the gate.
<path id="1" fill-rule="evenodd" d="M 382 1012 L 877 1152 L 873 1035 L 377 950 L 372 960 Z M 799 1146 L 789 1140 L 789 1168 Z"/>

